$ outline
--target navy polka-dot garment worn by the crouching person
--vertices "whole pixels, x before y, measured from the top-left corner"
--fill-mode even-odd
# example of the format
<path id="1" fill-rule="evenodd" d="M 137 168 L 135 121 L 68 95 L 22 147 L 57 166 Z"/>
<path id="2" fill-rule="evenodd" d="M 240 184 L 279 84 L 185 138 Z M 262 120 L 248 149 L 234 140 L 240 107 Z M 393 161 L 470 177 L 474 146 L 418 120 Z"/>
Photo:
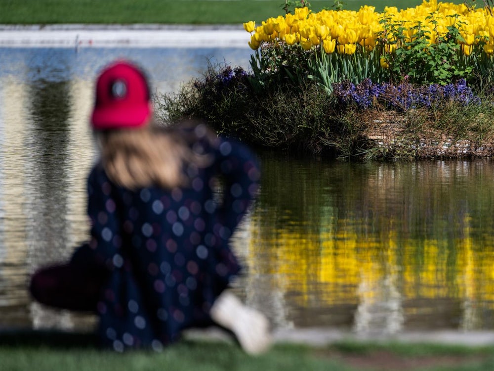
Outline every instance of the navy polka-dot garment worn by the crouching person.
<path id="1" fill-rule="evenodd" d="M 89 250 L 110 271 L 97 305 L 104 346 L 161 350 L 181 330 L 209 325 L 214 300 L 239 273 L 228 239 L 255 195 L 258 166 L 240 143 L 200 145 L 212 163 L 186 169 L 188 187 L 129 190 L 101 165 L 90 173 Z"/>

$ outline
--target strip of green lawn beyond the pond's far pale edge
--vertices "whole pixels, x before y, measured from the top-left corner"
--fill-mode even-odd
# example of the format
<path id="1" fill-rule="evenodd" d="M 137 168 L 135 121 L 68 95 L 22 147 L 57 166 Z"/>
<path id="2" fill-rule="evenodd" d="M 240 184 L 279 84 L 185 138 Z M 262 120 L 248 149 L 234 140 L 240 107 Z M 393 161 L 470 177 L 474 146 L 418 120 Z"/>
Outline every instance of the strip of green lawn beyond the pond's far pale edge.
<path id="1" fill-rule="evenodd" d="M 346 0 L 344 8 L 358 10 L 374 5 L 407 8 L 420 0 Z M 460 0 L 452 2 L 460 3 Z M 163 23 L 242 24 L 260 23 L 284 14 L 283 0 L 0 0 L 0 24 L 60 23 Z M 310 1 L 313 11 L 330 8 L 332 0 Z"/>

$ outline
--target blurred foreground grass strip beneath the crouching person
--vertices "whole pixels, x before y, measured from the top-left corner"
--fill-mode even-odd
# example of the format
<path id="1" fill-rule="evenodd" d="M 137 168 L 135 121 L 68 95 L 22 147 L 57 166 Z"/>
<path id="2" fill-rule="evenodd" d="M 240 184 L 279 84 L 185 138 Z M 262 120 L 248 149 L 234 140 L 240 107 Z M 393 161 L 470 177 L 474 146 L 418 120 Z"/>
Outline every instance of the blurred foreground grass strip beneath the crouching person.
<path id="1" fill-rule="evenodd" d="M 227 342 L 184 340 L 163 353 L 117 354 L 94 347 L 89 335 L 0 334 L 2 371 L 492 371 L 494 347 L 340 342 L 327 347 L 277 344 L 251 357 Z"/>

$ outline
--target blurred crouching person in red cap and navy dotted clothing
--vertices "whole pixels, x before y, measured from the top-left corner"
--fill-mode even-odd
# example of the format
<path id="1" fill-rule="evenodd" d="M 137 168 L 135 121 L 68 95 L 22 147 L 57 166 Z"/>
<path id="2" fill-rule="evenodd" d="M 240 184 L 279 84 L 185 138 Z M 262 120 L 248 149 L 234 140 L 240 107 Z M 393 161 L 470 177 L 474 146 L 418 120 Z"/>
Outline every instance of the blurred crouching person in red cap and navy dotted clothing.
<path id="1" fill-rule="evenodd" d="M 228 241 L 259 180 L 252 153 L 203 123 L 156 125 L 145 74 L 123 60 L 97 79 L 91 126 L 100 159 L 87 181 L 90 240 L 36 272 L 33 297 L 96 312 L 102 345 L 116 351 L 161 350 L 213 324 L 247 353 L 266 350 L 268 321 L 226 290 L 240 271 Z"/>

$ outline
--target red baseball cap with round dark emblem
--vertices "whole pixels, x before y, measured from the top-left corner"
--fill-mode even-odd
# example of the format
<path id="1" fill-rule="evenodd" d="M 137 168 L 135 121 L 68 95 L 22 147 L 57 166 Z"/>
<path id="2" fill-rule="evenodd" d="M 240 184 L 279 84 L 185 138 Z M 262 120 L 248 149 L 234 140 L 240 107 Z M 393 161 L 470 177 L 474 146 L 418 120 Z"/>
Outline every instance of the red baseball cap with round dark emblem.
<path id="1" fill-rule="evenodd" d="M 138 128 L 148 123 L 152 113 L 148 82 L 139 68 L 121 60 L 101 72 L 91 115 L 93 129 Z"/>

